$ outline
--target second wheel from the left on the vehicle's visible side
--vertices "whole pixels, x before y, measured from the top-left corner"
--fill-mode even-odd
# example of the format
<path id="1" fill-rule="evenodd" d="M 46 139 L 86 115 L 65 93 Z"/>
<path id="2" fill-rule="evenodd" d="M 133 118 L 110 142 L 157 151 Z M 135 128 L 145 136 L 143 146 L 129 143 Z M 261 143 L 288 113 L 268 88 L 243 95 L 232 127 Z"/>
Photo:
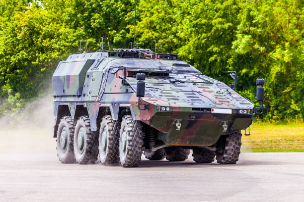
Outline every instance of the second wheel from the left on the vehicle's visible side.
<path id="1" fill-rule="evenodd" d="M 91 131 L 88 116 L 80 116 L 75 126 L 74 152 L 80 164 L 95 163 L 98 156 L 98 134 Z"/>

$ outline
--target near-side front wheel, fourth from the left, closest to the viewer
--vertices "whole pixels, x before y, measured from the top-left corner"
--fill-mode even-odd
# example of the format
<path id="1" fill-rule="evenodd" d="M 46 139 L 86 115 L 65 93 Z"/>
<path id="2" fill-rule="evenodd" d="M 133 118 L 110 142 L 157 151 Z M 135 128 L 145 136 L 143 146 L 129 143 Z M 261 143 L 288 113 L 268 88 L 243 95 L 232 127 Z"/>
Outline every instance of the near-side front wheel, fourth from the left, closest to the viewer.
<path id="1" fill-rule="evenodd" d="M 143 125 L 131 115 L 123 117 L 119 134 L 119 159 L 123 167 L 138 167 L 143 153 Z"/>

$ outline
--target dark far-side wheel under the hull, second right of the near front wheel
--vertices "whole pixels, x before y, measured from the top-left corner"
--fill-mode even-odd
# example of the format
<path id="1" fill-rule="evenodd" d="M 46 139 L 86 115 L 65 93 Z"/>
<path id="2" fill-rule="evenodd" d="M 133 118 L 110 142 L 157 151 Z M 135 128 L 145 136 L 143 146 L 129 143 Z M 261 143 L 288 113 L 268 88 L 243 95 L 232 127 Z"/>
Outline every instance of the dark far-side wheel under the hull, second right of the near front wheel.
<path id="1" fill-rule="evenodd" d="M 180 147 L 167 147 L 164 149 L 166 159 L 169 161 L 183 161 L 188 158 L 190 150 Z"/>

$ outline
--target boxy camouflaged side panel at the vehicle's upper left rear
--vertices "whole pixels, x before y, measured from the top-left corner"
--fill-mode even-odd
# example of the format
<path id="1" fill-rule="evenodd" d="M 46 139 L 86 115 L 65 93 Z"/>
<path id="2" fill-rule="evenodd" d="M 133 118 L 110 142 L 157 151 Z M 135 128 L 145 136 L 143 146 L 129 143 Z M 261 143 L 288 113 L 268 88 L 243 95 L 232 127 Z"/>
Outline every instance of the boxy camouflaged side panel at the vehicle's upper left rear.
<path id="1" fill-rule="evenodd" d="M 60 62 L 53 75 L 53 96 L 80 96 L 85 73 L 94 59 Z"/>

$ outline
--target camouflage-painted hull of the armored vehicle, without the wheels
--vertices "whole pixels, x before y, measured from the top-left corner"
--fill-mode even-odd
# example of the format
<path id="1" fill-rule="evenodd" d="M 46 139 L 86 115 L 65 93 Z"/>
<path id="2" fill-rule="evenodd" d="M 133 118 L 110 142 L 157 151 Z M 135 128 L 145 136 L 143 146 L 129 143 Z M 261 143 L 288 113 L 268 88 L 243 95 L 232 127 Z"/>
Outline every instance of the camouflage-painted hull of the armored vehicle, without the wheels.
<path id="1" fill-rule="evenodd" d="M 122 84 L 123 67 L 126 85 Z M 141 98 L 148 104 L 147 110 L 137 106 L 139 72 L 147 73 L 145 97 Z M 60 62 L 53 75 L 53 98 L 55 136 L 63 114 L 61 106 L 67 105 L 65 113 L 69 114 L 65 115 L 72 118 L 86 108 L 91 130 L 95 131 L 105 113 L 117 120 L 121 110 L 127 108 L 134 120 L 155 128 L 168 146 L 213 145 L 222 134 L 247 128 L 254 111 L 251 101 L 184 61 L 126 58 L 102 51 L 72 54 Z M 159 106 L 169 110 L 158 110 Z M 241 114 L 239 109 L 250 112 Z"/>

